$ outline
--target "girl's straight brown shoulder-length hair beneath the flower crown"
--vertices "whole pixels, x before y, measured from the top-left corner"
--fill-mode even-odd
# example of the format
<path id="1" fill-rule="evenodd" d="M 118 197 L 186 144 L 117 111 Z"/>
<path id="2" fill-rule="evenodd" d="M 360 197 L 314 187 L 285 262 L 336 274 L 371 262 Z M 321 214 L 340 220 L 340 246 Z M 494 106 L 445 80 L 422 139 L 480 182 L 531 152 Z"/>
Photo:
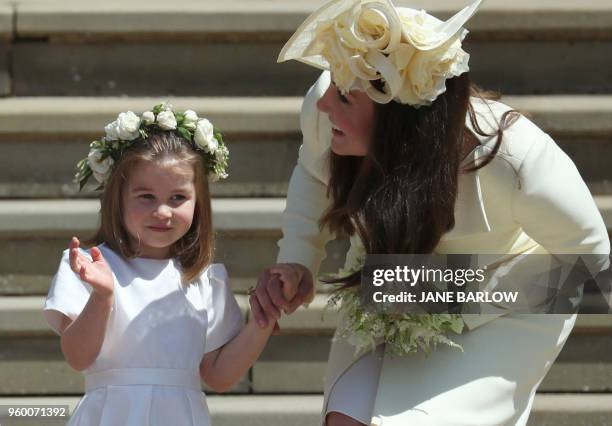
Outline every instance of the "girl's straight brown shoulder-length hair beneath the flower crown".
<path id="1" fill-rule="evenodd" d="M 176 258 L 182 268 L 182 281 L 189 283 L 212 262 L 214 238 L 210 192 L 204 158 L 189 141 L 173 132 L 150 134 L 145 140 L 137 140 L 115 163 L 101 196 L 100 227 L 89 244 L 106 243 L 125 258 L 140 255 L 132 247 L 123 221 L 123 196 L 130 171 L 140 163 L 163 164 L 176 160 L 189 164 L 194 170 L 196 204 L 193 222 L 187 233 L 170 248 L 170 256 Z"/>

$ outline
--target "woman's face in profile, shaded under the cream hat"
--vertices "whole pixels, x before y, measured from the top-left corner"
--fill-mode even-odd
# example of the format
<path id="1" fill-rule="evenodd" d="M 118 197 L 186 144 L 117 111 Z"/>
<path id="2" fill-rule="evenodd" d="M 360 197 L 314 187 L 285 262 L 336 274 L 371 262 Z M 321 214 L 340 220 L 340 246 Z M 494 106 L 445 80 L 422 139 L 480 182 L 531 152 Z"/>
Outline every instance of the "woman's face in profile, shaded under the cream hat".
<path id="1" fill-rule="evenodd" d="M 317 101 L 332 123 L 331 150 L 338 155 L 365 156 L 374 134 L 374 101 L 365 92 L 342 95 L 331 83 Z"/>

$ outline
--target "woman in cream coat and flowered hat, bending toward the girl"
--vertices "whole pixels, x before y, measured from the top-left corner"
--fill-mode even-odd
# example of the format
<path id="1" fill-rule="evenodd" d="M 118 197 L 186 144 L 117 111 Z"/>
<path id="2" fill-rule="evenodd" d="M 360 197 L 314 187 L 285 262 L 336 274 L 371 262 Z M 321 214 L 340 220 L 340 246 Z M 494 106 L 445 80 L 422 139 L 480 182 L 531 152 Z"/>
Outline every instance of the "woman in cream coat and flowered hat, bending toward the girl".
<path id="1" fill-rule="evenodd" d="M 480 1 L 442 23 L 386 0 L 332 1 L 279 60 L 324 72 L 301 114 L 304 143 L 283 218 L 279 262 L 303 277 L 285 302 L 265 274 L 258 319 L 313 297 L 324 245 L 350 235 L 367 253 L 599 254 L 610 243 L 571 160 L 532 122 L 470 84 L 462 27 Z M 311 275 L 312 274 L 312 275 Z M 529 283 L 524 283 L 529 285 Z M 355 360 L 336 335 L 323 422 L 332 425 L 525 425 L 535 391 L 576 316 L 464 315 L 456 342 Z"/>

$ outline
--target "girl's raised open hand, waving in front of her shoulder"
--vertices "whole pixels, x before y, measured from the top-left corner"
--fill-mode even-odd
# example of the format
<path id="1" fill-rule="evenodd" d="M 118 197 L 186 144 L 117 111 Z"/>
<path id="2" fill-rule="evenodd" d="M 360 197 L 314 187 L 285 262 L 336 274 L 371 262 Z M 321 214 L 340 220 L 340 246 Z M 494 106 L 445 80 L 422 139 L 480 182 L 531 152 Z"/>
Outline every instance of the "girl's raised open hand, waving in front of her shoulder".
<path id="1" fill-rule="evenodd" d="M 99 296 L 111 297 L 113 295 L 115 280 L 110 266 L 102 256 L 98 247 L 92 247 L 89 260 L 79 251 L 79 239 L 72 237 L 70 241 L 70 267 L 77 273 L 81 280 L 93 288 Z"/>

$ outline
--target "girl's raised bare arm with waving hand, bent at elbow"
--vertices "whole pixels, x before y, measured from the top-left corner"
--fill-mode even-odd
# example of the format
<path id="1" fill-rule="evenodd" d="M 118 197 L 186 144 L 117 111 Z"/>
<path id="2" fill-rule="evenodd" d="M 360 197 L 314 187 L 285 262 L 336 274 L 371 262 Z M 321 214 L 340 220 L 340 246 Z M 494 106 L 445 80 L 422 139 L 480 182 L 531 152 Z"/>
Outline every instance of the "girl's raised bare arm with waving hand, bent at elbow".
<path id="1" fill-rule="evenodd" d="M 61 325 L 61 348 L 66 362 L 76 369 L 89 367 L 100 353 L 106 324 L 113 307 L 114 278 L 97 247 L 91 249 L 92 260 L 79 252 L 79 240 L 70 242 L 70 267 L 93 288 L 89 301 L 71 323 L 68 317 Z"/>

